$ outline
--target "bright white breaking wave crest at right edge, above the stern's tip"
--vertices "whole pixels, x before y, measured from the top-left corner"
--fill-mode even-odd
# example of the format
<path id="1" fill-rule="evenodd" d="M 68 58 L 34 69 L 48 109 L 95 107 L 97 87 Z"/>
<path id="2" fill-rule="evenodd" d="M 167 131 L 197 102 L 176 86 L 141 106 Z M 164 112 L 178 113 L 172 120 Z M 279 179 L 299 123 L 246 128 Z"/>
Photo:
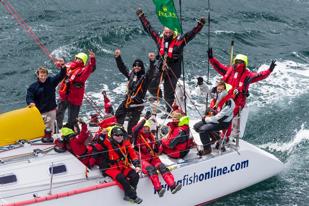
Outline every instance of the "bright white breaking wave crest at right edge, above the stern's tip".
<path id="1" fill-rule="evenodd" d="M 301 129 L 299 131 L 295 130 L 296 135 L 294 136 L 294 138 L 290 142 L 287 142 L 287 143 L 269 142 L 269 143 L 266 143 L 266 144 L 263 144 L 263 145 L 257 145 L 257 147 L 259 147 L 261 149 L 268 148 L 270 151 L 280 151 L 280 152 L 290 153 L 301 142 L 309 140 L 309 130 L 304 129 L 305 124 L 306 124 L 306 122 L 302 124 Z"/>

